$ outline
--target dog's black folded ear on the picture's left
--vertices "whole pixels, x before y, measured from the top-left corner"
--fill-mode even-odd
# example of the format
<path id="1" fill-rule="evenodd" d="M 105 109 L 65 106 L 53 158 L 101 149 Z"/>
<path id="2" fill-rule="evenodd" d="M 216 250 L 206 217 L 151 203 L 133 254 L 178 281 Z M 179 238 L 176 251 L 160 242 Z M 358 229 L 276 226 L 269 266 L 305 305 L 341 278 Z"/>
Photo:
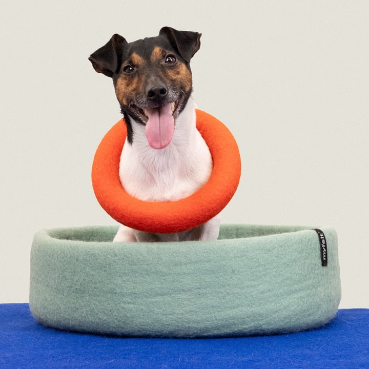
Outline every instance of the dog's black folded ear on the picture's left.
<path id="1" fill-rule="evenodd" d="M 106 45 L 90 55 L 89 60 L 95 71 L 112 77 L 118 69 L 119 55 L 127 44 L 124 37 L 114 34 Z"/>

